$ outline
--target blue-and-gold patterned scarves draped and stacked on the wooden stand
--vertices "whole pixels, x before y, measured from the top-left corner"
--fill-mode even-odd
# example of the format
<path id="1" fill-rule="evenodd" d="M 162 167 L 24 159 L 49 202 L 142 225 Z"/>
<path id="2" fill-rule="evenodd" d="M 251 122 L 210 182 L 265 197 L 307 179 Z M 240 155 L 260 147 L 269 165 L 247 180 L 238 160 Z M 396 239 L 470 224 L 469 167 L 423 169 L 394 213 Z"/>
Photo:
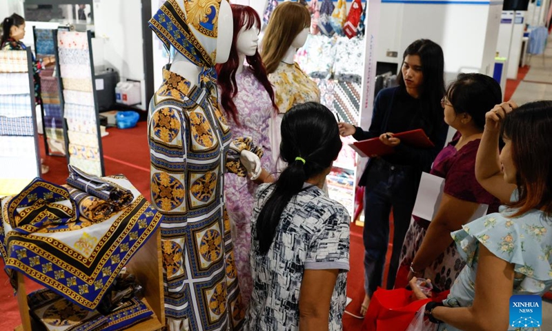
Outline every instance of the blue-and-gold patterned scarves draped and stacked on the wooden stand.
<path id="1" fill-rule="evenodd" d="M 68 184 L 37 178 L 1 199 L 0 253 L 12 285 L 17 290 L 18 271 L 46 286 L 29 303 L 48 330 L 115 330 L 122 320 L 150 316 L 132 298 L 114 314 L 96 310 L 161 214 L 122 175 L 98 178 L 70 167 Z"/>

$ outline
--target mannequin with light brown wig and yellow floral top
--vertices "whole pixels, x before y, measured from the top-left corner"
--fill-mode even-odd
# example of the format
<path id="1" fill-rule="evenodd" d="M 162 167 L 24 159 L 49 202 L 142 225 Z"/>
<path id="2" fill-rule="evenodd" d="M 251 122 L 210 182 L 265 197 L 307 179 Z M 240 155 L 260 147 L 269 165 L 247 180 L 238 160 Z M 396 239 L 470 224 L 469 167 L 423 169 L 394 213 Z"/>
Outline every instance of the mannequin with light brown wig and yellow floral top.
<path id="1" fill-rule="evenodd" d="M 277 172 L 286 168 L 279 159 L 280 126 L 282 117 L 290 108 L 308 101 L 320 102 L 317 84 L 293 61 L 311 27 L 311 14 L 306 6 L 287 1 L 276 7 L 264 34 L 262 59 L 273 84 L 279 114 L 270 121 L 270 141 Z"/>

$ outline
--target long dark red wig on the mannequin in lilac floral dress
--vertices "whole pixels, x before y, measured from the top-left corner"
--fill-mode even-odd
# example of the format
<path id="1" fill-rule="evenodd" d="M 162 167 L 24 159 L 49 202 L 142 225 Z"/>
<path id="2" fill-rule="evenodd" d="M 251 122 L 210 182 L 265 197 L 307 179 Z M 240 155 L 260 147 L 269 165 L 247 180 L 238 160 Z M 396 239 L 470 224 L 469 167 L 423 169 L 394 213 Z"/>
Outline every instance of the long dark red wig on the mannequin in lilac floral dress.
<path id="1" fill-rule="evenodd" d="M 230 57 L 228 57 L 226 63 L 219 63 L 215 68 L 217 69 L 217 80 L 221 89 L 220 104 L 224 108 L 224 111 L 230 114 L 234 122 L 239 125 L 238 111 L 233 101 L 233 98 L 237 94 L 236 70 L 240 64 L 236 47 L 237 36 L 244 26 L 246 30 L 253 28 L 253 26 L 261 30 L 261 19 L 259 18 L 259 14 L 249 6 L 230 5 L 230 7 L 232 8 L 232 15 L 234 17 L 234 36 L 232 38 L 232 47 L 230 48 Z M 255 52 L 255 55 L 246 57 L 246 61 L 250 67 L 245 68 L 245 70 L 253 71 L 253 76 L 262 84 L 270 96 L 270 101 L 272 101 L 275 112 L 277 112 L 278 108 L 274 101 L 274 90 L 272 85 L 270 85 L 270 81 L 268 81 L 266 68 L 264 68 L 259 50 Z"/>

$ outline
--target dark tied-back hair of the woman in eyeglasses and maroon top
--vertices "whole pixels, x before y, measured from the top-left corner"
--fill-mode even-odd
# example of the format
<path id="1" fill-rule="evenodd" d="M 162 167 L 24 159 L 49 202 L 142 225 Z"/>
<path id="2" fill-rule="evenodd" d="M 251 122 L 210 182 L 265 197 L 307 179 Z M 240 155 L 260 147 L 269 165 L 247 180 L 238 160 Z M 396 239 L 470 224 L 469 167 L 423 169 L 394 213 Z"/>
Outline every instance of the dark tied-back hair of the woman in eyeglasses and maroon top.
<path id="1" fill-rule="evenodd" d="M 459 74 L 446 90 L 455 114 L 469 114 L 475 126 L 483 131 L 485 114 L 502 102 L 500 85 L 486 74 Z"/>

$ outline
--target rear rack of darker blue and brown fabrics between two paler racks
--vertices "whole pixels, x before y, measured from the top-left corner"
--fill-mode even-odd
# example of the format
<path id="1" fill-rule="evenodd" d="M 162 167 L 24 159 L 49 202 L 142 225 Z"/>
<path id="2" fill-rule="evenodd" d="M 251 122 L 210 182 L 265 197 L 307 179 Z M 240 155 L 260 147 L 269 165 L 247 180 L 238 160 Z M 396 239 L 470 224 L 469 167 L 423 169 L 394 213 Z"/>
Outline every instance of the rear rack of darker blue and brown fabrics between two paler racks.
<path id="1" fill-rule="evenodd" d="M 37 59 L 56 57 L 57 30 L 38 29 L 33 26 L 32 32 Z M 67 154 L 66 131 L 63 130 L 61 89 L 57 76 L 59 76 L 57 61 L 55 69 L 44 68 L 40 72 L 42 128 L 46 155 L 64 157 Z"/>

